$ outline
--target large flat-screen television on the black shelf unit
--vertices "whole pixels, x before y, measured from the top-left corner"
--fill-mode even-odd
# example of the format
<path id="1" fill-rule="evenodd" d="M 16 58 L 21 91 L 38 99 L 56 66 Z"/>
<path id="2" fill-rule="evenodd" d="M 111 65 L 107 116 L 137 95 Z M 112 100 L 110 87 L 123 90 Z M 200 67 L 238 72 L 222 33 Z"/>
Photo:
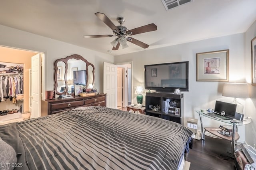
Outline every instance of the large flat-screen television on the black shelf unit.
<path id="1" fill-rule="evenodd" d="M 188 61 L 145 65 L 145 89 L 188 91 Z"/>

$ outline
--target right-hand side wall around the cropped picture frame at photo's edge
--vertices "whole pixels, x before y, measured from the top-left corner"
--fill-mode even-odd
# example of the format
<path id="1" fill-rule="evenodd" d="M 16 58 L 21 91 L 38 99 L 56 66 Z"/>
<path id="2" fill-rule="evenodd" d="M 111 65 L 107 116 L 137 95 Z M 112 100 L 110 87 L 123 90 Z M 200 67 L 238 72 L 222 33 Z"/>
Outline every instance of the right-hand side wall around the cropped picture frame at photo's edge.
<path id="1" fill-rule="evenodd" d="M 256 37 L 256 21 L 250 26 L 245 33 L 245 62 L 246 62 L 246 79 L 251 83 L 251 40 Z M 245 128 L 246 142 L 251 146 L 256 144 L 256 86 L 250 86 L 250 99 L 246 100 L 246 115 L 252 118 L 252 123 Z"/>

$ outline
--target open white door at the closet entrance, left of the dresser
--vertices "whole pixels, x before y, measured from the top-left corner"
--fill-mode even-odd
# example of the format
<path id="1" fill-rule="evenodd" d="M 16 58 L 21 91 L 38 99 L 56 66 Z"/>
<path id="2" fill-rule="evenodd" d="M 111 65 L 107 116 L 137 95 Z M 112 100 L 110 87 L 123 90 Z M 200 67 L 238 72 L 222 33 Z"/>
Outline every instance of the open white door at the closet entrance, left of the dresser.
<path id="1" fill-rule="evenodd" d="M 36 54 L 31 58 L 31 95 L 30 95 L 30 113 L 31 118 L 40 117 L 41 101 L 41 57 Z"/>

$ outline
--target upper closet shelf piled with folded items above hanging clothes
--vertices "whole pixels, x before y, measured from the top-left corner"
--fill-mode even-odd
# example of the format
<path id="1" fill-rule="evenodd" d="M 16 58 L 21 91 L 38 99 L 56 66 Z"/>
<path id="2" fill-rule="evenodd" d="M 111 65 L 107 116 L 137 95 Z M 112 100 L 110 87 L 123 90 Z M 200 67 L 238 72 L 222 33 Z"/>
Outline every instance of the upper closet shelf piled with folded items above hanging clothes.
<path id="1" fill-rule="evenodd" d="M 24 64 L 0 62 L 0 73 L 23 74 Z"/>

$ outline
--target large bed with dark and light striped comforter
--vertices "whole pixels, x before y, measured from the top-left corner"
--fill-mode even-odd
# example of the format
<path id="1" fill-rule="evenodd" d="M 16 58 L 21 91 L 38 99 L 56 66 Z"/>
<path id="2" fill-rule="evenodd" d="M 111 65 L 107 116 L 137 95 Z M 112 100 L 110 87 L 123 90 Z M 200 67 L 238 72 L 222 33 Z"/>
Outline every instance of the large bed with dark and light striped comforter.
<path id="1" fill-rule="evenodd" d="M 176 170 L 191 135 L 172 121 L 93 106 L 0 126 L 0 148 L 16 154 L 14 169 Z"/>

